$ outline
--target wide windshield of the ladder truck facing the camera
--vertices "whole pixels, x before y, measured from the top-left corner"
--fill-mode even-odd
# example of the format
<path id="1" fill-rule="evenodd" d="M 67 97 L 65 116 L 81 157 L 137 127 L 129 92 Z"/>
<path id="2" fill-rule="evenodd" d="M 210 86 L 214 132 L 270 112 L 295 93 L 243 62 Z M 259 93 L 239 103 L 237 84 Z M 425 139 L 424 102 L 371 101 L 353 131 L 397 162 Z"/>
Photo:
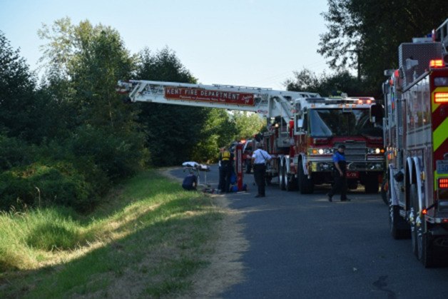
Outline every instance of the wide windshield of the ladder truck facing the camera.
<path id="1" fill-rule="evenodd" d="M 382 136 L 382 128 L 370 122 L 369 109 L 310 109 L 310 135 L 331 136 Z"/>

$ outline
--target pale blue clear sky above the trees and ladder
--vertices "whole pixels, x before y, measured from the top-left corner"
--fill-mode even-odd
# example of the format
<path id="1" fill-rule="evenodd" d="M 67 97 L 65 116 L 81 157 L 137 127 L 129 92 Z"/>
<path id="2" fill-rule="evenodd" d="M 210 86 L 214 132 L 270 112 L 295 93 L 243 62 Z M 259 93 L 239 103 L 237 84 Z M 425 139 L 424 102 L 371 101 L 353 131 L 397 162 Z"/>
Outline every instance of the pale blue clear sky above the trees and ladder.
<path id="1" fill-rule="evenodd" d="M 31 70 L 37 31 L 68 17 L 111 26 L 132 54 L 168 47 L 199 83 L 282 90 L 293 71 L 328 73 L 317 54 L 326 11 L 327 0 L 0 0 L 0 31 Z"/>

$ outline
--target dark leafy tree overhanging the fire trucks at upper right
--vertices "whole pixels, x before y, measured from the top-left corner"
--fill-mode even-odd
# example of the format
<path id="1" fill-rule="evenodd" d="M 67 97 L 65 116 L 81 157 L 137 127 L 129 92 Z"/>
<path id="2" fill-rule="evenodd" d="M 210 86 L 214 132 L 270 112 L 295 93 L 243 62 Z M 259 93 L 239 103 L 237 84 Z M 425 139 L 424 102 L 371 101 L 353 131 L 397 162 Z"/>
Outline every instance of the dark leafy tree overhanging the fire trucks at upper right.
<path id="1" fill-rule="evenodd" d="M 328 31 L 318 53 L 337 71 L 357 69 L 365 88 L 380 92 L 385 69 L 397 68 L 397 48 L 425 36 L 447 18 L 446 1 L 328 0 Z"/>

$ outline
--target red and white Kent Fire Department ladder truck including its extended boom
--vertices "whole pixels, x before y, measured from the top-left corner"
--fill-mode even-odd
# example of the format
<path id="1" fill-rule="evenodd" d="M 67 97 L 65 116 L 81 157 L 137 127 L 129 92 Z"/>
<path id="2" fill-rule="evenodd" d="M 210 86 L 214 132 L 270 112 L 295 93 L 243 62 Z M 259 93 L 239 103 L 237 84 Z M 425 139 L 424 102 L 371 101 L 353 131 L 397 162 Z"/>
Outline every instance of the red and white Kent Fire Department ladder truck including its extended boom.
<path id="1" fill-rule="evenodd" d="M 132 102 L 225 108 L 264 116 L 268 131 L 258 134 L 256 141 L 273 156 L 268 183 L 276 178 L 282 190 L 300 188 L 301 193 L 312 193 L 315 184 L 331 183 L 332 153 L 343 143 L 349 187 L 361 182 L 367 192 L 378 191 L 384 154 L 381 118 L 375 121 L 372 115 L 377 107 L 373 98 L 322 98 L 300 91 L 144 80 L 119 81 L 118 91 Z M 243 145 L 236 148 L 240 188 Z"/>

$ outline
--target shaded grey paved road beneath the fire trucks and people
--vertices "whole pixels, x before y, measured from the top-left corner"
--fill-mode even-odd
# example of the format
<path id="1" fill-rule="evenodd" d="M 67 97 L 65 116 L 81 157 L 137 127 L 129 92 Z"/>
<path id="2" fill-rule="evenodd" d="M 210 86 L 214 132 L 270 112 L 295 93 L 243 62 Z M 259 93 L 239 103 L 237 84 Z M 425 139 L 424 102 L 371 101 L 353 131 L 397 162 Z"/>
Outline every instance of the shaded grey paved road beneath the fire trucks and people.
<path id="1" fill-rule="evenodd" d="M 182 170 L 172 172 L 184 176 Z M 217 185 L 217 171 L 207 174 Z M 230 208 L 245 214 L 246 280 L 223 298 L 448 298 L 448 263 L 424 269 L 410 240 L 388 233 L 380 195 L 357 190 L 350 202 L 329 203 L 327 189 L 312 195 L 268 186 L 266 198 L 250 190 L 231 193 Z"/>

